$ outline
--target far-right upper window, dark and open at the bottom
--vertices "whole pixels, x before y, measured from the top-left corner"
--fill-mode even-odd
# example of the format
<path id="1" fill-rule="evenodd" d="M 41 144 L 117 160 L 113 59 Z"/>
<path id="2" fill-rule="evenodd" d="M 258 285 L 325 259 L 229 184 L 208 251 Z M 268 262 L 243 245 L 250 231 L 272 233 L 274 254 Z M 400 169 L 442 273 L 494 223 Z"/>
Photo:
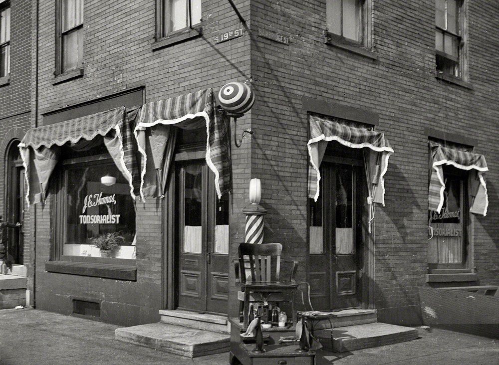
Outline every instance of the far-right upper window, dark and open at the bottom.
<path id="1" fill-rule="evenodd" d="M 462 0 L 436 0 L 435 49 L 437 71 L 462 77 L 460 64 L 462 37 Z"/>

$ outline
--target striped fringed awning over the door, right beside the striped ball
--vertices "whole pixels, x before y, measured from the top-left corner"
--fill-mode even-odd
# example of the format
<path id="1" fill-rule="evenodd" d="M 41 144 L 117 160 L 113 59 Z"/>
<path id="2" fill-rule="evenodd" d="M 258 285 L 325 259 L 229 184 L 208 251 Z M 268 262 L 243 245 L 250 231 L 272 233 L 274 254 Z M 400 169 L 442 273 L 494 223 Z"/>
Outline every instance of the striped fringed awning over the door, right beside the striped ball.
<path id="1" fill-rule="evenodd" d="M 145 104 L 135 137 L 142 154 L 140 192 L 145 197 L 165 194 L 179 129 L 206 127 L 206 163 L 215 174 L 219 198 L 231 189 L 229 119 L 217 113 L 212 89 Z"/>

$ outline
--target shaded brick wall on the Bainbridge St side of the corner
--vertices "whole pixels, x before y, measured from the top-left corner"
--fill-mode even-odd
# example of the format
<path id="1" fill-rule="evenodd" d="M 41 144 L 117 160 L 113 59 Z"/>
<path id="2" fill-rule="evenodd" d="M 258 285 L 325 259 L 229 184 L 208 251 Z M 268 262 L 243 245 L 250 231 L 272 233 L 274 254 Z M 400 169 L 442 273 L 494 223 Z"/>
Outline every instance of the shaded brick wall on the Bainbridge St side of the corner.
<path id="1" fill-rule="evenodd" d="M 375 224 L 375 305 L 383 318 L 417 321 L 417 287 L 427 269 L 428 136 L 425 127 L 479 141 L 490 172 L 489 213 L 475 217 L 475 265 L 482 283 L 499 283 L 497 1 L 468 1 L 469 80 L 473 90 L 435 78 L 435 1 L 373 1 L 372 60 L 324 44 L 325 1 L 251 1 L 251 25 L 288 35 L 289 45 L 256 37 L 251 74 L 252 177 L 269 209 L 265 241 L 286 255 L 307 253 L 307 120 L 302 96 L 379 114 L 395 154 L 385 177 L 386 206 Z M 413 307 L 411 307 L 413 306 Z M 384 313 L 384 314 L 383 314 Z M 389 313 L 389 314 L 388 314 Z M 412 313 L 412 314 L 411 314 Z"/>

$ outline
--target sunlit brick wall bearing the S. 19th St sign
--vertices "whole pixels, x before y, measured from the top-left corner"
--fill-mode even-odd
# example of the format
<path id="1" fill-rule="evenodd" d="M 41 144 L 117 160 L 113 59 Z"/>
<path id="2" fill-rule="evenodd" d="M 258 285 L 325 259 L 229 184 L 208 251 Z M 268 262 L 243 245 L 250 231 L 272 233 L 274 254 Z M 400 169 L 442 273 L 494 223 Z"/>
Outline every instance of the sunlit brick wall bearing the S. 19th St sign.
<path id="1" fill-rule="evenodd" d="M 249 2 L 239 1 L 240 12 L 249 18 Z M 203 1 L 203 36 L 163 49 L 152 50 L 155 35 L 154 1 L 85 1 L 84 76 L 52 85 L 55 69 L 54 1 L 40 2 L 39 13 L 39 115 L 145 86 L 146 102 L 213 87 L 217 92 L 231 80 L 250 78 L 248 36 L 215 45 L 213 37 L 224 29 L 239 26 L 227 1 Z M 250 127 L 249 115 L 239 120 L 239 130 Z M 247 202 L 250 144 L 233 149 L 234 214 L 231 237 L 243 237 Z M 246 183 L 240 183 L 246 182 Z M 171 202 L 165 201 L 165 204 Z M 106 303 L 104 321 L 133 325 L 153 322 L 163 308 L 160 200 L 137 203 L 137 282 L 51 274 L 44 271 L 49 259 L 49 207 L 37 211 L 37 305 L 41 309 L 70 313 L 70 296 L 81 295 Z M 166 269 L 166 268 L 165 268 Z M 231 272 L 232 275 L 232 272 Z M 75 288 L 78 288 L 75 290 Z M 57 301 L 50 301 L 58 298 Z M 111 305 L 112 303 L 112 305 Z M 104 304 L 103 304 L 104 306 Z M 119 311 L 123 315 L 119 315 Z M 111 313 L 112 312 L 112 313 Z M 128 316 L 128 314 L 133 314 Z"/>

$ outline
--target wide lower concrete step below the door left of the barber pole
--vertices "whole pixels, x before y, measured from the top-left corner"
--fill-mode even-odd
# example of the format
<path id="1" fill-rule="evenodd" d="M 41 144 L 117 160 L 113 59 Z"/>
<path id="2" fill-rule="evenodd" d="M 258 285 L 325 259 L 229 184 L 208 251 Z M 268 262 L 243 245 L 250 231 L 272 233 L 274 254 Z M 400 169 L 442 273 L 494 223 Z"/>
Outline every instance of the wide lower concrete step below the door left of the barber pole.
<path id="1" fill-rule="evenodd" d="M 117 328 L 116 340 L 196 358 L 229 351 L 231 336 L 166 323 Z"/>

